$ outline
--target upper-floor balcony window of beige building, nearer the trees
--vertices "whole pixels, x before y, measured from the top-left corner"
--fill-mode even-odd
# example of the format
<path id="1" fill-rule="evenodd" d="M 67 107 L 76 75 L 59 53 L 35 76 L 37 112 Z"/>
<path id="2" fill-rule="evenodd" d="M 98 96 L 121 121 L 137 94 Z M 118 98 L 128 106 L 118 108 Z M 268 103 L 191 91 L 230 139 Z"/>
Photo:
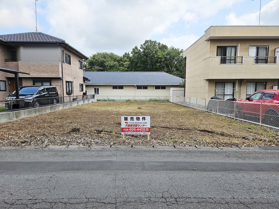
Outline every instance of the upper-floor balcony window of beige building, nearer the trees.
<path id="1" fill-rule="evenodd" d="M 217 56 L 221 57 L 220 64 L 235 63 L 236 46 L 217 46 Z"/>

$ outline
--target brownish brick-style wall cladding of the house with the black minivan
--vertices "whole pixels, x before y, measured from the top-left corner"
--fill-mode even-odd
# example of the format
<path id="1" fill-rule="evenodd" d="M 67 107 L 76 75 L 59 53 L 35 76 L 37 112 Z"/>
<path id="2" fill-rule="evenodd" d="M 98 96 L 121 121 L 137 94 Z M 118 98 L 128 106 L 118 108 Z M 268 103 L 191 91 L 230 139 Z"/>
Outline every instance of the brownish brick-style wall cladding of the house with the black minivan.
<path id="1" fill-rule="evenodd" d="M 24 44 L 18 46 L 20 50 L 24 50 Z M 36 46 L 33 44 L 32 46 Z M 43 49 L 44 45 L 40 45 Z M 30 46 L 29 46 L 30 47 Z M 30 73 L 30 75 L 19 74 L 22 78 L 23 85 L 33 85 L 33 78 L 51 78 L 51 85 L 57 87 L 59 96 L 75 96 L 82 95 L 85 92 L 85 82 L 83 81 L 83 70 L 78 68 L 78 60 L 82 61 L 82 57 L 72 53 L 71 51 L 63 48 L 64 52 L 71 56 L 71 64 L 63 63 L 63 76 L 62 80 L 62 64 L 61 64 L 61 48 L 53 46 L 54 49 L 59 51 L 58 61 L 17 61 L 5 62 L 5 59 L 11 59 L 11 51 L 17 51 L 17 59 L 20 59 L 20 50 L 15 47 L 9 47 L 0 44 L 0 67 L 18 70 Z M 6 96 L 11 93 L 11 85 L 9 81 L 14 79 L 14 74 L 5 73 L 0 71 L 0 80 L 6 81 L 7 91 L 0 91 L 0 100 L 5 100 Z M 62 82 L 63 81 L 63 82 Z M 73 81 L 73 94 L 66 94 L 66 81 Z M 79 91 L 79 84 L 83 84 L 83 91 Z"/>

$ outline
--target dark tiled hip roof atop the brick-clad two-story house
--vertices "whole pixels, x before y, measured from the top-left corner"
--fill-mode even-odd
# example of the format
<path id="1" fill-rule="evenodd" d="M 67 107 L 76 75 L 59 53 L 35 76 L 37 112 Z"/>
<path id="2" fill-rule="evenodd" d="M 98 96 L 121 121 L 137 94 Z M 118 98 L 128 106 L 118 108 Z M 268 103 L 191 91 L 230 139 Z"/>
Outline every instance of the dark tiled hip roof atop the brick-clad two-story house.
<path id="1" fill-rule="evenodd" d="M 61 38 L 50 36 L 41 32 L 15 33 L 0 35 L 0 37 L 9 42 L 65 42 L 65 40 Z"/>

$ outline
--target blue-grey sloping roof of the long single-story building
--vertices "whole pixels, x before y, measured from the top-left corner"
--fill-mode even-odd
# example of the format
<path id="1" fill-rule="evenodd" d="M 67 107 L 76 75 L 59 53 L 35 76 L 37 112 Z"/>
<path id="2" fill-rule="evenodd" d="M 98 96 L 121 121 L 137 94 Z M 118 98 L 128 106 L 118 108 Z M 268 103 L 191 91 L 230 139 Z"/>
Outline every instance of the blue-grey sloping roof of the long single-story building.
<path id="1" fill-rule="evenodd" d="M 83 76 L 91 78 L 86 84 L 93 85 L 179 85 L 182 78 L 166 72 L 94 72 L 84 71 Z"/>

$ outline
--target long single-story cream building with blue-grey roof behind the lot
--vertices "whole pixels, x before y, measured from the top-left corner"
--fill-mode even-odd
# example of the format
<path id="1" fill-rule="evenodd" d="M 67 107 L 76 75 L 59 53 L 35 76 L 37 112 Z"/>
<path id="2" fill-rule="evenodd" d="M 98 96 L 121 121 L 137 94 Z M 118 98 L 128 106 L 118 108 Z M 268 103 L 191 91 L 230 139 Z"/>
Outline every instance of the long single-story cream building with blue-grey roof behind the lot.
<path id="1" fill-rule="evenodd" d="M 169 100 L 170 88 L 183 79 L 166 72 L 100 72 L 84 71 L 91 78 L 85 83 L 87 94 L 100 100 Z"/>

